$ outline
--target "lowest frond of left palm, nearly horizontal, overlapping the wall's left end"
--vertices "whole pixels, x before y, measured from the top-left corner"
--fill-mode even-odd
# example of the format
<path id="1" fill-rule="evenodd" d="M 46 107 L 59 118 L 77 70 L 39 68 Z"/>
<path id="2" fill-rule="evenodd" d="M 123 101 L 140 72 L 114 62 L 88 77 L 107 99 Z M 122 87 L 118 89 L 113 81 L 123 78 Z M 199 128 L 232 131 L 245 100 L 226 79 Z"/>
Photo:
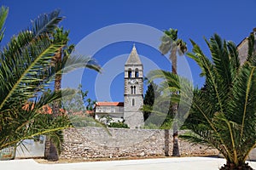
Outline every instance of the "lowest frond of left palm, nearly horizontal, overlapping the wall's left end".
<path id="1" fill-rule="evenodd" d="M 38 114 L 35 110 L 20 110 L 18 115 L 9 118 L 14 121 L 7 121 L 2 125 L 0 150 L 23 139 L 32 139 L 33 136 L 53 133 L 71 126 L 67 116 L 53 117 L 49 114 Z"/>

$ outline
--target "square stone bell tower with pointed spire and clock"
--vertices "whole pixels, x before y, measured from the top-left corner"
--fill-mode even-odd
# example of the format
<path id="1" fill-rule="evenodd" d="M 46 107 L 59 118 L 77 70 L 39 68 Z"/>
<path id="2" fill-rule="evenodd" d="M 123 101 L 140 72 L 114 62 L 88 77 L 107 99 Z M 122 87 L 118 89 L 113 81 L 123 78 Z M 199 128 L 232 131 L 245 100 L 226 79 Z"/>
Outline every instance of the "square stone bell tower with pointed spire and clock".
<path id="1" fill-rule="evenodd" d="M 135 45 L 125 62 L 125 123 L 130 128 L 143 126 L 143 64 Z"/>

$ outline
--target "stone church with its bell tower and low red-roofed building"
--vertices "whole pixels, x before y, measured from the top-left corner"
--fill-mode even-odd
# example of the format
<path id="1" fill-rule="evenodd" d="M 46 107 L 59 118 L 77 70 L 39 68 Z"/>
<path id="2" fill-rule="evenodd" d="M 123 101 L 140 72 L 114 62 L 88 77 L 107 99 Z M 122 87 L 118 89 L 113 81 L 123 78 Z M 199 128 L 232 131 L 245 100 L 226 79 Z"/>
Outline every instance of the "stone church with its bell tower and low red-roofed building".
<path id="1" fill-rule="evenodd" d="M 103 122 L 123 122 L 130 128 L 143 126 L 143 64 L 135 45 L 125 62 L 125 102 L 96 102 L 95 118 Z"/>

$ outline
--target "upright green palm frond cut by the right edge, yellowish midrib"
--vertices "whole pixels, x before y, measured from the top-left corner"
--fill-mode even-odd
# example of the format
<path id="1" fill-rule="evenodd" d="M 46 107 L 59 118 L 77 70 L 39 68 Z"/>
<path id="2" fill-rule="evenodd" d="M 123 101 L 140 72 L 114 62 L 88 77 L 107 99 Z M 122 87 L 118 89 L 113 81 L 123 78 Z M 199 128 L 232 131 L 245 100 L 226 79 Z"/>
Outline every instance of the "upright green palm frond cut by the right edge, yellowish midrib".
<path id="1" fill-rule="evenodd" d="M 253 111 L 256 105 L 256 67 L 250 66 L 247 63 L 241 67 L 241 73 L 238 75 L 234 84 L 234 100 L 232 101 L 232 111 L 235 113 L 230 115 L 230 119 L 241 125 L 240 142 L 246 139 L 247 134 L 252 133 L 249 137 L 255 137 L 256 121 L 255 112 Z M 242 113 L 242 114 L 238 114 Z M 246 133 L 246 134 L 244 134 Z M 245 135 L 245 136 L 244 136 Z"/>

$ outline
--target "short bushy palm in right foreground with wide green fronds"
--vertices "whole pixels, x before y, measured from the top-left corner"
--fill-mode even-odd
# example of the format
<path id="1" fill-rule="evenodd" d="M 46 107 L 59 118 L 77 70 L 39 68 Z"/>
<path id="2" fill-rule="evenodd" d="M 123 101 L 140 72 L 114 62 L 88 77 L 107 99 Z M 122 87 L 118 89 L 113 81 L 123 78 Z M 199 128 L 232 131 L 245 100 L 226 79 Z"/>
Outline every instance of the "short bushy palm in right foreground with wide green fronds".
<path id="1" fill-rule="evenodd" d="M 194 97 L 187 95 L 190 83 L 180 83 L 182 77 L 168 72 L 151 73 L 152 78 L 167 77 L 166 89 L 176 89 L 186 96 L 184 104 L 193 99 L 185 126 L 191 133 L 183 139 L 195 144 L 206 144 L 216 148 L 226 159 L 220 169 L 252 169 L 246 163 L 247 156 L 256 147 L 256 56 L 253 54 L 254 37 L 248 37 L 248 55 L 241 65 L 234 42 L 226 42 L 217 34 L 207 41 L 212 59 L 208 59 L 201 48 L 191 40 L 194 59 L 206 77 L 203 88 L 193 90 Z M 165 75 L 165 76 L 163 76 Z M 184 82 L 184 81 L 182 81 Z M 189 85 L 190 84 L 190 85 Z M 178 98 L 177 98 L 178 99 Z"/>

